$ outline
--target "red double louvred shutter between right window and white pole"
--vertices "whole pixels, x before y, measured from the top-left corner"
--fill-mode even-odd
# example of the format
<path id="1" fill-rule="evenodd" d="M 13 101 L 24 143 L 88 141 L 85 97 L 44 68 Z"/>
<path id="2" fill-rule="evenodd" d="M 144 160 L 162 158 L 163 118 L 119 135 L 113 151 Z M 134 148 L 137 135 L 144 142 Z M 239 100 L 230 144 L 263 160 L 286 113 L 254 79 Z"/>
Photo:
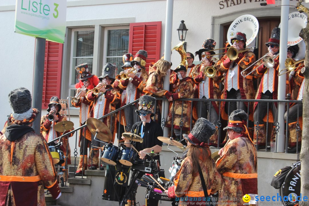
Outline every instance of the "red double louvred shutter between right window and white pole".
<path id="1" fill-rule="evenodd" d="M 162 22 L 130 23 L 129 31 L 129 53 L 135 55 L 138 50 L 144 49 L 148 53 L 146 70 L 150 62 L 158 61 L 161 46 Z"/>

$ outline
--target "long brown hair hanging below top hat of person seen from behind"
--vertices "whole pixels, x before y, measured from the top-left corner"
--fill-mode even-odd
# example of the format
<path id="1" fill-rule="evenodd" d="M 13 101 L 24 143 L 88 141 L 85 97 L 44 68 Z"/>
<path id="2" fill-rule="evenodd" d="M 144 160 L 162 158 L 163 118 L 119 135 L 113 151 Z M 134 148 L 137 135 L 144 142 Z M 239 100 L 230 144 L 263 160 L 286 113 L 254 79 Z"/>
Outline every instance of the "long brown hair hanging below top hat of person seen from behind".
<path id="1" fill-rule="evenodd" d="M 205 147 L 198 147 L 195 145 L 188 145 L 188 153 L 187 153 L 187 157 L 191 159 L 192 161 L 192 171 L 194 172 L 194 175 L 198 174 L 198 165 L 199 160 L 201 160 L 201 162 L 205 162 L 207 159 L 210 158 L 210 153 L 209 153 L 209 149 L 205 148 Z"/>

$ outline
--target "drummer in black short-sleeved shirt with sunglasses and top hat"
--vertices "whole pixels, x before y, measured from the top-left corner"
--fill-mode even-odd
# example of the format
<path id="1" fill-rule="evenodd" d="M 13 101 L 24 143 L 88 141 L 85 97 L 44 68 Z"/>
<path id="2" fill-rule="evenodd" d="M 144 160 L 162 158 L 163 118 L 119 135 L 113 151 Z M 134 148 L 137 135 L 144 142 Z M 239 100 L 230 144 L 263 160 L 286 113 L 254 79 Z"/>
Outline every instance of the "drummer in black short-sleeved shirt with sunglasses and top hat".
<path id="1" fill-rule="evenodd" d="M 135 159 L 140 158 L 150 161 L 151 158 L 149 155 L 146 155 L 146 153 L 151 153 L 152 150 L 154 150 L 154 153 L 159 153 L 162 150 L 162 142 L 159 141 L 157 137 L 163 136 L 163 130 L 159 124 L 155 123 L 155 121 L 151 119 L 151 117 L 155 115 L 155 113 L 152 111 L 155 106 L 155 101 L 156 99 L 154 97 L 148 95 L 143 95 L 139 98 L 139 107 L 136 112 L 138 113 L 142 121 L 133 124 L 131 132 L 142 137 L 143 142 L 133 142 L 133 145 L 139 151 L 139 156 L 137 155 Z M 129 144 L 130 140 L 125 137 L 121 138 L 125 141 L 126 147 L 131 146 Z M 160 162 L 159 155 L 155 156 L 153 159 L 157 159 Z M 137 178 L 141 178 L 143 174 L 144 172 L 140 172 Z M 134 175 L 135 172 L 134 170 L 132 170 L 130 174 L 130 181 L 133 180 Z M 137 189 L 137 184 L 133 186 L 133 188 Z M 135 196 L 135 193 L 133 192 L 132 195 Z M 135 197 L 133 196 L 129 198 L 127 205 L 135 205 L 133 202 L 131 203 L 130 201 L 135 199 Z M 151 200 L 148 202 L 147 205 L 158 205 L 158 202 L 158 200 Z"/>

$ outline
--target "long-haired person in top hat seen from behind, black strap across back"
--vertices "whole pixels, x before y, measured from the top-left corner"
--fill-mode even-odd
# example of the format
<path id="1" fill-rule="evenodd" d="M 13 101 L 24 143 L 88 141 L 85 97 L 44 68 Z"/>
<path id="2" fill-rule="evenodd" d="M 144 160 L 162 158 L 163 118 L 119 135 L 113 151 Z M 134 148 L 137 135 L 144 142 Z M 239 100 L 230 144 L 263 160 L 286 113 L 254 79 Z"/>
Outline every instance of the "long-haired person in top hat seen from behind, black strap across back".
<path id="1" fill-rule="evenodd" d="M 169 198 L 183 197 L 179 205 L 205 204 L 205 197 L 209 196 L 210 192 L 217 192 L 221 187 L 222 178 L 216 163 L 210 157 L 211 152 L 207 144 L 215 130 L 214 124 L 205 118 L 199 118 L 190 134 L 183 134 L 188 144 L 184 160 L 174 177 L 175 185 L 165 191 Z M 206 188 L 201 180 L 204 180 Z"/>

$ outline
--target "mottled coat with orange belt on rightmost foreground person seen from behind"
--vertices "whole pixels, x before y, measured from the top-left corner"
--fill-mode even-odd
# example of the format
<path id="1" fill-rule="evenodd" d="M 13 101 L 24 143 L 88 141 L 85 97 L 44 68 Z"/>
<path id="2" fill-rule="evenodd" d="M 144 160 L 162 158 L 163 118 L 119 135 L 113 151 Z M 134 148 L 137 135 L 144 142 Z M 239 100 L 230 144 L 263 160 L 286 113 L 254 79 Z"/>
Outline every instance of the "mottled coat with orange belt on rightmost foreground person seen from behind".
<path id="1" fill-rule="evenodd" d="M 237 201 L 237 205 L 243 205 L 243 195 L 258 194 L 256 149 L 248 137 L 237 137 L 227 143 L 222 155 L 217 161 L 217 169 L 223 180 L 219 199 L 224 198 L 224 201 L 218 202 L 235 204 Z"/>

